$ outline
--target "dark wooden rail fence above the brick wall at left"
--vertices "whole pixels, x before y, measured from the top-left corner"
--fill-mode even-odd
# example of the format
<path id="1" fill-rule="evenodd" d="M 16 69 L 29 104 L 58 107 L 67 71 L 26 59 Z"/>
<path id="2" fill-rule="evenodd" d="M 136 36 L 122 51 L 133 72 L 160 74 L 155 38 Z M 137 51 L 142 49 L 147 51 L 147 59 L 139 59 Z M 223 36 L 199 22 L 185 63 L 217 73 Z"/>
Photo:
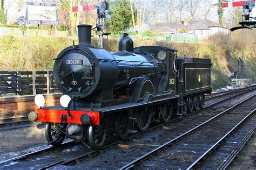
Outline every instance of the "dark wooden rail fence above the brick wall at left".
<path id="1" fill-rule="evenodd" d="M 52 71 L 0 72 L 0 95 L 36 95 L 59 92 Z"/>

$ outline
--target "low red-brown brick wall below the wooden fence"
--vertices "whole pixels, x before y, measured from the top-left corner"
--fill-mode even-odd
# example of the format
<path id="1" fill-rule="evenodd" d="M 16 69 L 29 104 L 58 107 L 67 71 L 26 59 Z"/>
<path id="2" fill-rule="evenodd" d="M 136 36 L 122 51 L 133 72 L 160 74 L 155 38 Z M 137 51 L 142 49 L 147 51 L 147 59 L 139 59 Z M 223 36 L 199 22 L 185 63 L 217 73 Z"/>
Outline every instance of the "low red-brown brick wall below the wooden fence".
<path id="1" fill-rule="evenodd" d="M 59 105 L 59 98 L 62 94 L 44 95 L 44 107 Z M 0 97 L 0 117 L 27 115 L 30 111 L 38 108 L 34 102 L 35 96 L 12 96 Z"/>

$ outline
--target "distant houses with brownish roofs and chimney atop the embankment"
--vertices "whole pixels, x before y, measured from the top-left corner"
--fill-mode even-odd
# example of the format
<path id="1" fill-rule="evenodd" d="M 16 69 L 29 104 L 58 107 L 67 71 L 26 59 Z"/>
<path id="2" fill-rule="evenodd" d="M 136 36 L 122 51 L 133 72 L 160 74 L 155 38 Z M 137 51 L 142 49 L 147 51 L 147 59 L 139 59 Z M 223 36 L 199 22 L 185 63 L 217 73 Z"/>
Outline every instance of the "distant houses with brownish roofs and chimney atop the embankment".
<path id="1" fill-rule="evenodd" d="M 208 38 L 216 33 L 228 34 L 229 30 L 209 19 L 187 20 L 172 23 L 151 24 L 151 30 L 158 33 L 192 33 L 197 34 L 198 38 Z"/>

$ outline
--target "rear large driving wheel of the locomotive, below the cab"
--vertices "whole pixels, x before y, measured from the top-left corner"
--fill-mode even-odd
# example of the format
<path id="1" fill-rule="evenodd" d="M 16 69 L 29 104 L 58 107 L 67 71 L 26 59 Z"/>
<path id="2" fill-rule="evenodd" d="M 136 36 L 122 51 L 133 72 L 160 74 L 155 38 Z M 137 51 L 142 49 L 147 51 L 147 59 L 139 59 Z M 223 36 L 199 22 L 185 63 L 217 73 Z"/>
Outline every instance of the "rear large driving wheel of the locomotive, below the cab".
<path id="1" fill-rule="evenodd" d="M 170 122 L 173 112 L 173 103 L 163 103 L 159 106 L 161 120 L 165 123 Z"/>

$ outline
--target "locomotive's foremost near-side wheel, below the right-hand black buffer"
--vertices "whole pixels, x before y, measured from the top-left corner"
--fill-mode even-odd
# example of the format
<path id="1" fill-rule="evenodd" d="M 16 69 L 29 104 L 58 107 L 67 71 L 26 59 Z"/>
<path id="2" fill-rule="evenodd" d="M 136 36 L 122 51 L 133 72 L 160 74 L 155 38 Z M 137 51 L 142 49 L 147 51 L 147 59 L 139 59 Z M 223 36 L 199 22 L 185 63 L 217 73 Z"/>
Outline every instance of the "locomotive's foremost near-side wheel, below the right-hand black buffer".
<path id="1" fill-rule="evenodd" d="M 88 140 L 93 150 L 102 149 L 106 140 L 106 124 L 102 121 L 100 125 L 90 125 L 88 129 Z"/>

